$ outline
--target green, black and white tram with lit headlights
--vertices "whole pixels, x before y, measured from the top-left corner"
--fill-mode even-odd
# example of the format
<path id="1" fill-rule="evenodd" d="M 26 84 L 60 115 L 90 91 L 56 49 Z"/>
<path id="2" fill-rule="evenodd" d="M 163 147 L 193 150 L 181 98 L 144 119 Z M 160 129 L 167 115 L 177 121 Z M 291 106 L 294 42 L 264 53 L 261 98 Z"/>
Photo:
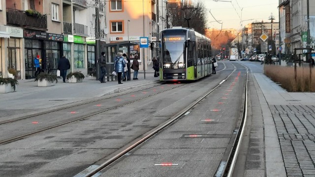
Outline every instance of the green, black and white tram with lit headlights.
<path id="1" fill-rule="evenodd" d="M 193 29 L 161 31 L 160 81 L 198 80 L 212 73 L 211 40 Z"/>

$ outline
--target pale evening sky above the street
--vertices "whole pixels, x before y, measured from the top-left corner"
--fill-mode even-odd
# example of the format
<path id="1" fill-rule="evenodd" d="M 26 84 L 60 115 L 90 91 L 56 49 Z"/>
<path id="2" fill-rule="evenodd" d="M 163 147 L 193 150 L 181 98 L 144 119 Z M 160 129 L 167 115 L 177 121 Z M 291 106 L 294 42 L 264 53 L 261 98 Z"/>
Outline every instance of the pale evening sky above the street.
<path id="1" fill-rule="evenodd" d="M 208 10 L 208 28 L 221 29 L 241 29 L 241 19 L 243 27 L 252 22 L 270 22 L 269 16 L 273 13 L 279 22 L 279 11 L 277 9 L 279 0 L 201 0 Z M 243 8 L 243 10 L 241 10 Z M 210 12 L 211 13 L 210 13 Z M 213 16 L 212 16 L 212 15 Z M 215 20 L 216 19 L 216 20 Z"/>

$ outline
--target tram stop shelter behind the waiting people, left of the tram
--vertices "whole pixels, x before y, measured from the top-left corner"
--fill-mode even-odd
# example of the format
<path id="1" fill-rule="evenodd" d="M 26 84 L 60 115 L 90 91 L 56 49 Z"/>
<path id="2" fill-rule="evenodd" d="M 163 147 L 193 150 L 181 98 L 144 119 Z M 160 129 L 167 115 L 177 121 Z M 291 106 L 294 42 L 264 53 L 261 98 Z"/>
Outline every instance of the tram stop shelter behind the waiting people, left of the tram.
<path id="1" fill-rule="evenodd" d="M 101 47 L 101 52 L 105 52 L 105 56 L 107 59 L 107 64 L 106 64 L 106 72 L 107 74 L 111 74 L 114 71 L 114 61 L 115 57 L 118 52 L 125 53 L 130 59 L 130 46 L 135 46 L 139 45 L 139 42 L 134 42 L 134 41 L 124 41 L 124 42 L 115 42 L 115 43 L 108 43 L 108 44 L 102 44 Z M 132 47 L 133 49 L 133 47 Z M 132 60 L 132 59 L 130 59 Z M 131 65 L 131 64 L 130 64 Z M 130 78 L 130 65 L 128 67 L 128 75 Z"/>

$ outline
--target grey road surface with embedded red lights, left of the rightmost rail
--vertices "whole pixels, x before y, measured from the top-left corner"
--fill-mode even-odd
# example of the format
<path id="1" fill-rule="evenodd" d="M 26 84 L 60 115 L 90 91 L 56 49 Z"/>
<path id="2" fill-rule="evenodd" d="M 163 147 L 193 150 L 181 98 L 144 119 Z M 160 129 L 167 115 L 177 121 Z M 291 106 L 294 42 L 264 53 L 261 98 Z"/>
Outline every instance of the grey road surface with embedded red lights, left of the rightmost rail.
<path id="1" fill-rule="evenodd" d="M 187 177 L 214 175 L 233 141 L 233 131 L 237 128 L 241 115 L 245 82 L 245 68 L 242 65 L 237 62 L 223 63 L 219 63 L 217 71 L 224 70 L 198 82 L 165 84 L 163 87 L 136 92 L 134 96 L 108 98 L 103 102 L 1 126 L 1 139 L 6 139 L 65 119 L 88 115 L 97 109 L 105 109 L 105 105 L 121 104 L 143 97 L 144 94 L 163 90 L 149 99 L 1 145 L 1 176 L 73 177 L 92 164 L 102 163 L 119 149 L 178 114 L 219 84 L 234 70 L 235 65 L 237 70 L 232 77 L 199 103 L 191 113 L 102 172 L 102 176 L 106 177 L 145 177 L 148 173 L 157 177 L 175 177 L 179 174 Z M 238 80 L 235 80 L 238 73 Z M 171 89 L 164 91 L 168 87 Z M 230 88 L 232 90 L 227 91 Z M 104 107 L 95 106 L 96 104 Z M 221 111 L 211 111 L 215 109 Z M 76 113 L 71 114 L 71 111 Z M 207 118 L 214 121 L 203 121 Z M 34 121 L 38 123 L 32 123 Z M 202 137 L 185 137 L 190 134 Z M 164 162 L 176 163 L 178 166 L 154 166 Z"/>

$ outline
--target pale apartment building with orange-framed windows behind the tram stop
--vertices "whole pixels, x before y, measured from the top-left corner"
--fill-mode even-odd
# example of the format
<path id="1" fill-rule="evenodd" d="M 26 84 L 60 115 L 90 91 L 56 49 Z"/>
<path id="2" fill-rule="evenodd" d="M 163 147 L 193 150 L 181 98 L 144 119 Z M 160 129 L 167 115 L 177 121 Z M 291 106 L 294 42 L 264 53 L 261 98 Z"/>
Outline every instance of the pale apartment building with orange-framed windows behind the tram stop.
<path id="1" fill-rule="evenodd" d="M 140 37 L 149 37 L 152 42 L 157 36 L 156 0 L 130 1 L 110 0 L 105 4 L 106 43 L 108 63 L 113 63 L 117 52 L 127 53 L 130 45 L 130 59 L 139 57 L 139 68 L 147 68 L 154 55 L 149 48 L 140 49 Z M 153 37 L 153 38 L 152 38 Z M 130 44 L 126 44 L 130 42 Z M 110 45 L 108 45 L 108 43 Z M 116 43 L 119 44 L 117 47 Z M 145 61 L 145 62 L 144 62 Z"/>

